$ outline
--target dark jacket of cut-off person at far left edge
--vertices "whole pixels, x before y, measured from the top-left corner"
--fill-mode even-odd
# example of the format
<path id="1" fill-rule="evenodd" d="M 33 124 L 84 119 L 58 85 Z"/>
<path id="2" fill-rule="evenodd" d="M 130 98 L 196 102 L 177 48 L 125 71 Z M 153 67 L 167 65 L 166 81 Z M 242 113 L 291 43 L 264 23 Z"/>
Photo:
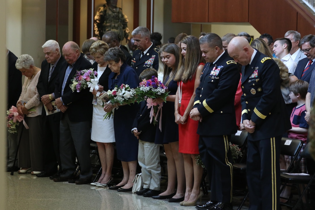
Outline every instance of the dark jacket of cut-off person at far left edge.
<path id="1" fill-rule="evenodd" d="M 22 73 L 15 68 L 18 58 L 9 50 L 8 54 L 8 109 L 16 106 L 22 92 Z"/>

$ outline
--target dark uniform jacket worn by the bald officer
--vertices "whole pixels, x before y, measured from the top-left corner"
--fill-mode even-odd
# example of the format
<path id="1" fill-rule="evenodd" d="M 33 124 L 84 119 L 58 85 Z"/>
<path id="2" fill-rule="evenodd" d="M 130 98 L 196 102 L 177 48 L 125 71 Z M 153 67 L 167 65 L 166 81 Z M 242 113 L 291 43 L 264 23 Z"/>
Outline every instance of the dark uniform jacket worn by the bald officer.
<path id="1" fill-rule="evenodd" d="M 280 90 L 280 70 L 272 58 L 257 51 L 252 63 L 242 67 L 241 82 L 242 119 L 256 123 L 249 140 L 282 136 L 291 128 Z"/>

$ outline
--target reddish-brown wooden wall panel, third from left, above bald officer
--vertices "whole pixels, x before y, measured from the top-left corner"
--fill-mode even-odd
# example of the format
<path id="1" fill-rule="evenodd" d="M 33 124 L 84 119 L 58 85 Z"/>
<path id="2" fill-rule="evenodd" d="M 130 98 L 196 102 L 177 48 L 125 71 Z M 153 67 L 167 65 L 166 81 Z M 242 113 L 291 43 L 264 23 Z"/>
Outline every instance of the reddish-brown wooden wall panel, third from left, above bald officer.
<path id="1" fill-rule="evenodd" d="M 289 30 L 297 30 L 297 12 L 285 0 L 249 0 L 249 23 L 273 39 L 283 37 Z"/>

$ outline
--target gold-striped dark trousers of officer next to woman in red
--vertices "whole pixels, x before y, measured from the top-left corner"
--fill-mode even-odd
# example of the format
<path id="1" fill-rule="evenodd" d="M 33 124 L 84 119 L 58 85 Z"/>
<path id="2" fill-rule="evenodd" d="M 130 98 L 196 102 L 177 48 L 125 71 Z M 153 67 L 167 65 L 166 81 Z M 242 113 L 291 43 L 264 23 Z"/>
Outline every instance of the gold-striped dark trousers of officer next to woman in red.
<path id="1" fill-rule="evenodd" d="M 211 201 L 232 202 L 233 166 L 230 139 L 231 135 L 199 137 L 201 160 L 207 169 L 212 170 Z"/>

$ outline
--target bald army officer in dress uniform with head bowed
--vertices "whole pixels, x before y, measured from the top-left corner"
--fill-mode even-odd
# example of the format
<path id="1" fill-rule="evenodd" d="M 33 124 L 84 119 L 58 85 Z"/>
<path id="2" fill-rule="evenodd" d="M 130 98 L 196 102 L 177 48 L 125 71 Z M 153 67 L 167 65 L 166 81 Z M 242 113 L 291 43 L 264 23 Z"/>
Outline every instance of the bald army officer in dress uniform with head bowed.
<path id="1" fill-rule="evenodd" d="M 242 67 L 242 119 L 248 131 L 249 209 L 279 209 L 280 143 L 291 128 L 280 90 L 279 67 L 266 55 L 235 37 L 229 55 Z"/>

